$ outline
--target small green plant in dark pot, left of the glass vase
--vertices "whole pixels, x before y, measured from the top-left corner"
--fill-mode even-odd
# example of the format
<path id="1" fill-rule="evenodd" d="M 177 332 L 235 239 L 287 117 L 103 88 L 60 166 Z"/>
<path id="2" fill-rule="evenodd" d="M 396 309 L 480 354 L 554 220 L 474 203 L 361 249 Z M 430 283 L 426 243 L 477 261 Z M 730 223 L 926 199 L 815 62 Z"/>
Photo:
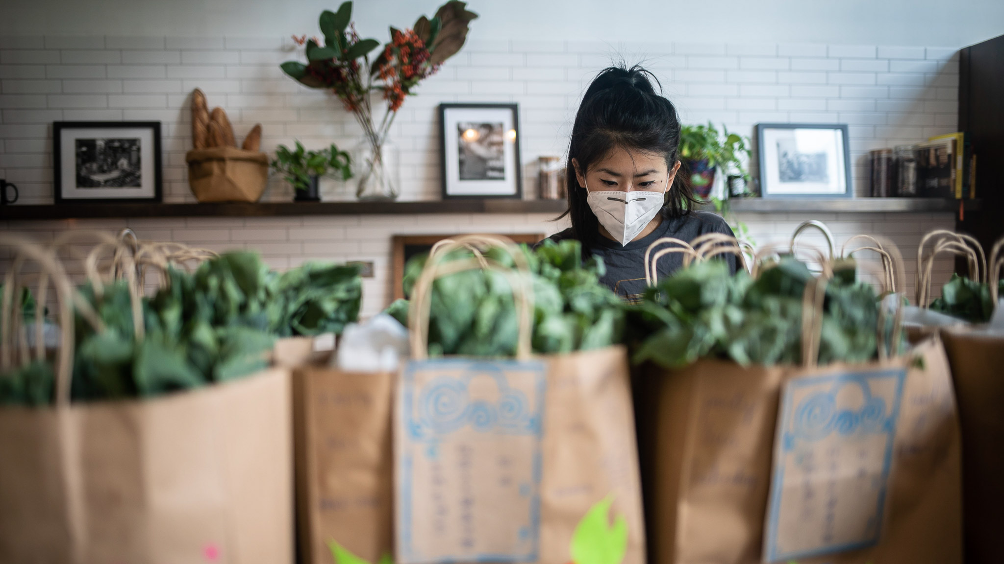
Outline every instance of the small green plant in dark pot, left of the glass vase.
<path id="1" fill-rule="evenodd" d="M 300 142 L 296 142 L 296 149 L 292 151 L 280 145 L 275 150 L 272 170 L 293 185 L 296 202 L 320 202 L 317 183 L 324 175 L 330 174 L 342 181 L 352 178 L 351 159 L 334 144 L 319 151 L 306 151 Z"/>

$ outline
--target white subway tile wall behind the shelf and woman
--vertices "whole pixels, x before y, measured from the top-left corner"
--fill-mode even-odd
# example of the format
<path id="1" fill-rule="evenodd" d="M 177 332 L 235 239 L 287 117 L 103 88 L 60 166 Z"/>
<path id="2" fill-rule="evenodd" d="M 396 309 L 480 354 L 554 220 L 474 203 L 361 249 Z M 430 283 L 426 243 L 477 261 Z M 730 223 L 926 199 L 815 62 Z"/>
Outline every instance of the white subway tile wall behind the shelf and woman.
<path id="1" fill-rule="evenodd" d="M 185 152 L 191 148 L 189 96 L 202 88 L 224 107 L 239 137 L 258 122 L 262 146 L 331 142 L 351 149 L 359 127 L 330 94 L 300 86 L 278 68 L 301 58 L 288 39 L 269 37 L 0 37 L 0 178 L 20 188 L 19 204 L 52 201 L 51 122 L 163 122 L 166 202 L 194 202 Z M 534 163 L 563 155 L 579 97 L 611 60 L 640 61 L 655 72 L 685 122 L 712 120 L 753 133 L 761 121 L 842 122 L 850 125 L 853 184 L 867 190 L 871 149 L 916 143 L 956 128 L 958 54 L 955 48 L 824 44 L 623 43 L 468 41 L 399 112 L 392 140 L 401 152 L 402 200 L 440 195 L 436 106 L 451 101 L 517 102 L 524 187 L 535 191 Z M 755 163 L 751 167 L 755 174 Z M 346 183 L 322 183 L 327 200 L 350 200 Z M 266 201 L 291 190 L 270 179 Z M 813 214 L 839 240 L 878 233 L 900 244 L 908 269 L 920 235 L 951 228 L 951 214 Z M 363 311 L 379 311 L 390 296 L 390 237 L 408 233 L 552 233 L 562 222 L 541 215 L 422 217 L 304 217 L 247 219 L 6 222 L 2 229 L 51 237 L 71 227 L 130 226 L 142 237 L 172 238 L 214 249 L 259 249 L 286 268 L 310 258 L 372 260 Z M 758 242 L 783 239 L 803 218 L 747 214 Z M 3 260 L 5 257 L 0 257 Z M 6 263 L 0 263 L 6 266 Z M 938 262 L 936 282 L 950 259 Z M 913 276 L 908 276 L 912 286 Z"/>

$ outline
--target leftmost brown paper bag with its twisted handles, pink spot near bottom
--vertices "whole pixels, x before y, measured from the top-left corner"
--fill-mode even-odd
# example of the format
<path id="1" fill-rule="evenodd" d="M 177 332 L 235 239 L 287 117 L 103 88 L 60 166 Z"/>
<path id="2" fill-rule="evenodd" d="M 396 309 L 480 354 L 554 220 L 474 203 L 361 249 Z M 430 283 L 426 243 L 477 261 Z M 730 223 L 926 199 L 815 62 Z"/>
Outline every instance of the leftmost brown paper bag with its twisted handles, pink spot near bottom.
<path id="1" fill-rule="evenodd" d="M 51 250 L 14 245 L 55 287 L 60 342 L 71 344 L 62 266 Z M 95 323 L 92 312 L 81 316 Z M 8 367 L 16 337 L 6 338 Z M 71 404 L 71 348 L 56 351 L 55 406 L 0 407 L 0 562 L 291 561 L 286 370 L 148 400 Z"/>

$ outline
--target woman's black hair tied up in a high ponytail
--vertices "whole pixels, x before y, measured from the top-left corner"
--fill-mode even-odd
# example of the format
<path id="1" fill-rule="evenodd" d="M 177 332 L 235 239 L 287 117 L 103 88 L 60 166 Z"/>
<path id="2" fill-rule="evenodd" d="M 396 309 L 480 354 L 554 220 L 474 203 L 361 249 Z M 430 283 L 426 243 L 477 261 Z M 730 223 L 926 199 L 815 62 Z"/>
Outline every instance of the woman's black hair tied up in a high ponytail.
<path id="1" fill-rule="evenodd" d="M 572 236 L 585 247 L 598 237 L 599 222 L 586 203 L 585 188 L 578 185 L 572 159 L 583 175 L 616 148 L 661 154 L 671 170 L 679 160 L 680 117 L 673 103 L 656 92 L 653 81 L 659 84 L 639 65 L 610 66 L 593 78 L 582 96 L 568 145 L 568 211 L 561 217 L 571 217 Z M 696 204 L 687 172 L 681 168 L 667 192 L 663 213 L 683 216 Z"/>

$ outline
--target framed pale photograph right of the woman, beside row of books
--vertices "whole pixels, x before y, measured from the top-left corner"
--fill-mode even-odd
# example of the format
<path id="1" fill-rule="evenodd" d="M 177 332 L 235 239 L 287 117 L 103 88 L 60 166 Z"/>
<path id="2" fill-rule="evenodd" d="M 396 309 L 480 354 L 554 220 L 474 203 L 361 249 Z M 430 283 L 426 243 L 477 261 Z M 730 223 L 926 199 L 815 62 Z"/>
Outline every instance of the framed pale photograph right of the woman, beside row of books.
<path id="1" fill-rule="evenodd" d="M 760 195 L 851 198 L 847 125 L 757 123 Z"/>

